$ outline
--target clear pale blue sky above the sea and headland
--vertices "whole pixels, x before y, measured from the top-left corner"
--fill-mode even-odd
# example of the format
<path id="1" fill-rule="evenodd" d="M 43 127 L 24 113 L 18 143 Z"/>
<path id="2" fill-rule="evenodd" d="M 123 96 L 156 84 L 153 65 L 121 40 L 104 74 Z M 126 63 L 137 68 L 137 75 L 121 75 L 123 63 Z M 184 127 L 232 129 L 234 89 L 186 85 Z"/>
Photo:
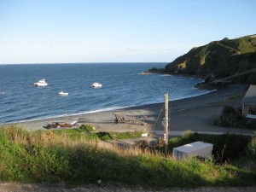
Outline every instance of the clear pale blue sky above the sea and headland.
<path id="1" fill-rule="evenodd" d="M 255 0 L 0 0 L 0 64 L 170 62 L 256 33 Z"/>

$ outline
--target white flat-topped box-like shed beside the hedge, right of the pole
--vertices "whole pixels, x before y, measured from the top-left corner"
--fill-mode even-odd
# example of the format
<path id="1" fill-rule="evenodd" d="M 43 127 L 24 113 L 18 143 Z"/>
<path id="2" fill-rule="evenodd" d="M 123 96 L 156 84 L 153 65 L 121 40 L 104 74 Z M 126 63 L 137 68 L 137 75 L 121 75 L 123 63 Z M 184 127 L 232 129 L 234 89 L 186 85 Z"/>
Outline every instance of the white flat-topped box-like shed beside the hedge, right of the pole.
<path id="1" fill-rule="evenodd" d="M 183 146 L 173 148 L 172 156 L 174 159 L 181 160 L 189 157 L 203 157 L 211 160 L 212 158 L 212 143 L 195 142 L 185 144 Z"/>

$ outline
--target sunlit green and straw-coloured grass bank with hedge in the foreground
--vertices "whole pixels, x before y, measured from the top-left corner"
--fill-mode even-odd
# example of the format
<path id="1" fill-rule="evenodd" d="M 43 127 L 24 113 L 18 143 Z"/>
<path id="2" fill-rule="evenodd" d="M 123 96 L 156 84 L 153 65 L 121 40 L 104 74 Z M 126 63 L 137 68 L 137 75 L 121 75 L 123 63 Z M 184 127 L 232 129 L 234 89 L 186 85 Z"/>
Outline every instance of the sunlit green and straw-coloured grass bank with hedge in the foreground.
<path id="1" fill-rule="evenodd" d="M 156 147 L 143 150 L 102 148 L 100 137 L 96 137 L 99 135 L 89 140 L 74 137 L 86 134 L 94 135 L 78 130 L 26 131 L 17 126 L 0 127 L 0 180 L 71 184 L 101 180 L 102 183 L 181 188 L 255 185 L 256 137 L 205 136 L 187 132 L 169 142 L 170 151 L 196 139 L 211 142 L 216 146 L 216 153 L 219 149 L 222 152 L 222 163 L 220 160 L 173 160 L 171 153 L 165 156 Z M 113 134 L 119 137 L 117 133 L 109 135 L 113 137 Z M 244 155 L 243 163 L 235 166 L 233 161 L 241 155 Z"/>

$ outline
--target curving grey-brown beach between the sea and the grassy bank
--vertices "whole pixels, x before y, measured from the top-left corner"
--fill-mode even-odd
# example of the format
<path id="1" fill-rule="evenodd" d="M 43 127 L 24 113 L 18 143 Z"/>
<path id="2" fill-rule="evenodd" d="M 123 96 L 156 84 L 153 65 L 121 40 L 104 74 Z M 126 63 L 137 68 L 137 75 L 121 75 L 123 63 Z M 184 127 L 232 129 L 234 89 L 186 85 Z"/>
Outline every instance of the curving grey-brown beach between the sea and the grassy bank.
<path id="1" fill-rule="evenodd" d="M 232 84 L 223 89 L 211 91 L 200 96 L 170 101 L 169 131 L 171 131 L 171 133 L 172 131 L 182 132 L 191 130 L 253 134 L 253 130 L 218 127 L 213 126 L 211 122 L 214 118 L 218 118 L 224 106 L 240 107 L 242 96 L 246 91 L 247 85 Z M 71 123 L 82 118 L 86 119 L 86 122 L 79 122 L 79 125 L 93 124 L 96 127 L 96 131 L 150 131 L 157 132 L 156 135 L 162 135 L 161 131 L 163 131 L 163 127 L 161 125 L 161 119 L 163 118 L 163 113 L 160 112 L 163 105 L 164 102 L 160 102 L 137 107 L 120 108 L 96 113 L 74 114 L 64 117 L 38 119 L 4 125 L 20 125 L 27 130 L 36 131 L 46 130 L 44 125 L 55 121 Z M 113 113 L 124 114 L 127 119 L 135 119 L 134 121 L 139 122 L 139 124 L 131 121 L 115 124 L 115 116 Z M 158 121 L 156 121 L 157 119 Z M 140 125 L 141 122 L 146 122 L 147 125 Z"/>

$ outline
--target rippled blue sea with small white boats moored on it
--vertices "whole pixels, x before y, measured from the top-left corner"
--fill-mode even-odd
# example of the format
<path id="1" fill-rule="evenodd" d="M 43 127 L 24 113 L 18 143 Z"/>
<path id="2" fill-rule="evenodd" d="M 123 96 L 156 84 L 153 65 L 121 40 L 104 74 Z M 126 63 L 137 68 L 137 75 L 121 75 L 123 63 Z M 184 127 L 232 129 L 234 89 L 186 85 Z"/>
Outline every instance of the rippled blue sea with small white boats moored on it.
<path id="1" fill-rule="evenodd" d="M 0 124 L 143 106 L 207 94 L 195 89 L 203 79 L 143 71 L 149 63 L 66 63 L 0 65 Z M 33 85 L 40 79 L 45 87 Z M 94 89 L 93 83 L 102 84 Z M 68 96 L 59 96 L 59 92 Z"/>

